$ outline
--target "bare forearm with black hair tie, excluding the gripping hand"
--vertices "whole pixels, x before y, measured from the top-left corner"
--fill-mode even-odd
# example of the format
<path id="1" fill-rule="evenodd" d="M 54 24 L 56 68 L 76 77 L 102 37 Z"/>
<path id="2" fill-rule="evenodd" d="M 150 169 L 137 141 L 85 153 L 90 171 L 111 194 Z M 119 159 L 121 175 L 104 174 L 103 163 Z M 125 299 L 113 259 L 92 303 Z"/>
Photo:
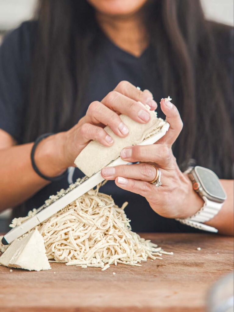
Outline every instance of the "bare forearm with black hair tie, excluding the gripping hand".
<path id="1" fill-rule="evenodd" d="M 51 177 L 66 169 L 61 167 L 57 159 L 58 140 L 59 134 L 48 137 L 38 145 L 35 153 L 37 167 Z M 0 210 L 22 203 L 50 183 L 32 168 L 32 145 L 29 143 L 0 150 Z"/>

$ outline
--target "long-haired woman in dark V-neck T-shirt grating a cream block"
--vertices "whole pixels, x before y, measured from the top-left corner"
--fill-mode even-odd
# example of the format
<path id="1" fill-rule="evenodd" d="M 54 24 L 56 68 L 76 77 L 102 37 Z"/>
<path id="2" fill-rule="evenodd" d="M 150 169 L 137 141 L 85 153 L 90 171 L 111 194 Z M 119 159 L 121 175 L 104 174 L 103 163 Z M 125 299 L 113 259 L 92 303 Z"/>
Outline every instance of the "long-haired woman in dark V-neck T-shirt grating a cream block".
<path id="1" fill-rule="evenodd" d="M 9 33 L 0 50 L 0 208 L 22 216 L 39 207 L 82 176 L 66 169 L 90 140 L 113 144 L 105 125 L 128 135 L 117 112 L 146 123 L 137 102 L 155 110 L 152 94 L 170 95 L 178 110 L 164 100 L 157 108 L 170 123 L 166 136 L 121 151 L 142 163 L 104 168 L 112 181 L 102 192 L 129 202 L 134 231 L 198 231 L 174 220 L 204 203 L 183 173 L 194 159 L 222 178 L 227 193 L 207 225 L 233 234 L 232 41 L 232 29 L 207 22 L 199 1 L 41 1 L 35 21 Z M 33 142 L 49 132 L 35 151 L 38 174 Z M 156 174 L 149 162 L 161 170 L 161 187 L 149 183 Z"/>

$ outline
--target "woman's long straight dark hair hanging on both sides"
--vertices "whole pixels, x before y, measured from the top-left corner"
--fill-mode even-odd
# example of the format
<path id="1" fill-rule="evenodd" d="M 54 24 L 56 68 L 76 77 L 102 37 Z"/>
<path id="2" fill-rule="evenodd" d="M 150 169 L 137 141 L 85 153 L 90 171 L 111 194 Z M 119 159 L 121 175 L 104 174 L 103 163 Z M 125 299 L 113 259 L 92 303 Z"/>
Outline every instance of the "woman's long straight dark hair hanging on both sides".
<path id="1" fill-rule="evenodd" d="M 184 169 L 195 158 L 232 178 L 233 94 L 227 66 L 218 57 L 215 23 L 205 20 L 199 0 L 149 0 L 144 10 L 158 60 L 152 71 L 160 73 L 161 96 L 173 98 L 184 123 L 176 143 L 179 166 Z M 86 0 L 41 0 L 37 20 L 23 142 L 76 124 L 99 47 L 100 29 Z"/>

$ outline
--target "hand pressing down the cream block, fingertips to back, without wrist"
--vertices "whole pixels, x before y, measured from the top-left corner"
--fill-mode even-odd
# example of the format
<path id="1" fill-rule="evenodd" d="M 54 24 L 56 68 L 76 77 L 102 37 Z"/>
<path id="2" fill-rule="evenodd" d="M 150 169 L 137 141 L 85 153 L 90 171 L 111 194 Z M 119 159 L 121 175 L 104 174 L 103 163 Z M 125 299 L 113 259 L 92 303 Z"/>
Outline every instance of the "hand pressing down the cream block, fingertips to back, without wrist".
<path id="1" fill-rule="evenodd" d="M 90 140 L 111 146 L 114 141 L 103 129 L 106 125 L 119 137 L 126 137 L 129 129 L 118 114 L 128 115 L 139 123 L 148 122 L 149 111 L 139 102 L 149 105 L 151 110 L 157 108 L 150 91 L 141 91 L 128 81 L 121 81 L 101 102 L 92 102 L 86 115 L 74 127 L 63 133 L 62 167 L 74 166 L 77 155 Z"/>

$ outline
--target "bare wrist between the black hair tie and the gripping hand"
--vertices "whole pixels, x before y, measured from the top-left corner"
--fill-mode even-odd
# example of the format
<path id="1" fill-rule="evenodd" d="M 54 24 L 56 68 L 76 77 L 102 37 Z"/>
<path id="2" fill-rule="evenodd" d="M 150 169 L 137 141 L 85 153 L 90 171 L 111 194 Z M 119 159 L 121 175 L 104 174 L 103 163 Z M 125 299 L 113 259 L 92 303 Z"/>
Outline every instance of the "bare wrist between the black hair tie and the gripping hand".
<path id="1" fill-rule="evenodd" d="M 69 167 L 64 157 L 65 142 L 65 133 L 60 132 L 43 139 L 37 145 L 34 160 L 43 175 L 56 177 Z"/>

